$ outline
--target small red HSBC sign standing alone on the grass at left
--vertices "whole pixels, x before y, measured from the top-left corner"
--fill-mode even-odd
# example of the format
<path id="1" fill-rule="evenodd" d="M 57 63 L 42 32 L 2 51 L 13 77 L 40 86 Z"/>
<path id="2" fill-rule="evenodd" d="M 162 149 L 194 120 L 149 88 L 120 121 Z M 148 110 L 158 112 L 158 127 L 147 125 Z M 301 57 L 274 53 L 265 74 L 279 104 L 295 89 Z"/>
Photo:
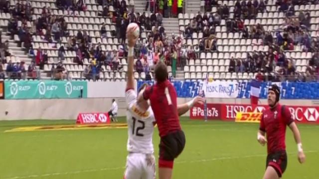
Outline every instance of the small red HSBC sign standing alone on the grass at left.
<path id="1" fill-rule="evenodd" d="M 109 124 L 108 113 L 79 113 L 76 119 L 77 124 Z"/>

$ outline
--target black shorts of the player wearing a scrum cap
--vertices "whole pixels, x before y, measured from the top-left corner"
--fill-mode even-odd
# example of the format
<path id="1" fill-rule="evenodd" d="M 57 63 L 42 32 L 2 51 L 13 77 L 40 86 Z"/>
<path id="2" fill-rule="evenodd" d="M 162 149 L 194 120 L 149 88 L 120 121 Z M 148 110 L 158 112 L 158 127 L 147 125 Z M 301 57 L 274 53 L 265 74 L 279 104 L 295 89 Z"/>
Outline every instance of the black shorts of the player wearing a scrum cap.
<path id="1" fill-rule="evenodd" d="M 282 177 L 287 168 L 287 153 L 286 151 L 278 151 L 272 154 L 268 154 L 266 161 L 266 168 L 268 166 L 273 167 L 278 177 Z"/>

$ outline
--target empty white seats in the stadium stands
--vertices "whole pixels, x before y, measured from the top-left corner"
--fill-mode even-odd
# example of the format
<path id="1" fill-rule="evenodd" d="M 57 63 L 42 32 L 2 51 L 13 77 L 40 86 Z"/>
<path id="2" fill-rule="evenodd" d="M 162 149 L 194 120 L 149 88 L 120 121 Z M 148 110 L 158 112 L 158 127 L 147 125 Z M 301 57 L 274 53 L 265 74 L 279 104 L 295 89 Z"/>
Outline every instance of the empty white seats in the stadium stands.
<path id="1" fill-rule="evenodd" d="M 11 7 L 16 4 L 17 0 L 10 0 Z M 79 29 L 87 31 L 87 33 L 92 37 L 92 45 L 95 46 L 98 43 L 102 44 L 103 51 L 118 50 L 123 48 L 119 43 L 119 39 L 111 35 L 111 31 L 115 30 L 115 24 L 112 23 L 110 18 L 104 18 L 98 16 L 98 12 L 102 10 L 102 6 L 98 5 L 95 0 L 85 0 L 87 5 L 86 11 L 68 11 L 58 9 L 53 0 L 30 0 L 32 7 L 34 8 L 33 19 L 40 17 L 43 6 L 50 6 L 52 13 L 54 15 L 63 15 L 65 21 L 67 22 L 67 30 L 69 36 L 77 34 Z M 268 0 L 266 6 L 267 12 L 259 12 L 257 17 L 254 19 L 245 19 L 245 26 L 255 25 L 260 23 L 263 25 L 266 31 L 270 31 L 275 37 L 275 31 L 280 29 L 281 25 L 284 23 L 285 14 L 284 12 L 279 12 L 278 6 L 275 5 L 276 0 Z M 233 9 L 235 0 L 219 0 L 219 4 L 227 4 L 230 9 L 230 18 L 233 17 Z M 127 4 L 134 4 L 132 0 Z M 202 3 L 203 4 L 203 3 Z M 113 6 L 109 7 L 111 11 Z M 295 15 L 298 16 L 303 10 L 307 10 L 311 15 L 311 28 L 309 29 L 310 34 L 313 38 L 319 37 L 319 4 L 305 4 L 305 5 L 295 5 Z M 216 12 L 217 8 L 213 7 L 212 12 Z M 146 14 L 149 16 L 149 14 Z M 179 29 L 184 30 L 185 26 L 189 23 L 190 19 L 195 16 L 194 13 L 178 14 L 178 24 Z M 0 26 L 6 27 L 8 19 L 11 17 L 10 13 L 0 13 Z M 100 27 L 101 23 L 106 23 L 107 38 L 101 38 Z M 21 24 L 21 22 L 19 22 Z M 27 26 L 31 26 L 31 22 L 27 22 Z M 281 32 L 283 33 L 283 32 Z M 202 32 L 193 33 L 192 38 L 184 39 L 183 42 L 187 45 L 196 45 L 203 36 Z M 147 39 L 147 32 L 143 32 L 141 35 L 142 39 L 145 41 Z M 48 64 L 44 66 L 43 72 L 49 72 L 52 64 L 58 63 L 57 49 L 64 45 L 66 46 L 69 37 L 62 37 L 61 43 L 53 40 L 52 43 L 48 43 L 44 40 L 43 36 L 33 35 L 32 45 L 34 49 L 41 47 L 48 51 Z M 245 59 L 247 57 L 247 52 L 251 53 L 253 51 L 264 51 L 267 52 L 269 47 L 263 45 L 262 39 L 243 39 L 241 38 L 240 32 L 226 32 L 226 19 L 222 19 L 219 26 L 216 26 L 216 38 L 218 52 L 200 52 L 198 59 L 190 60 L 187 62 L 187 66 L 183 68 L 184 79 L 194 80 L 194 79 L 205 79 L 207 76 L 216 80 L 248 80 L 254 78 L 256 73 L 236 73 L 231 74 L 228 72 L 229 69 L 229 59 L 231 57 Z M 14 40 L 18 41 L 17 35 L 14 36 Z M 35 51 L 36 53 L 36 51 Z M 303 52 L 303 46 L 297 45 L 292 51 L 285 51 L 285 55 L 288 58 L 292 58 L 296 70 L 298 72 L 306 72 L 306 67 L 309 64 L 309 60 L 312 58 L 312 52 Z M 69 75 L 73 79 L 85 79 L 83 77 L 83 69 L 89 65 L 89 59 L 84 60 L 84 65 L 78 65 L 73 63 L 73 58 L 76 56 L 74 51 L 67 51 L 63 65 L 68 70 Z M 105 71 L 100 75 L 101 79 L 105 80 L 124 80 L 125 72 L 127 71 L 127 62 L 125 59 L 121 59 L 121 65 L 124 66 L 120 71 L 113 71 L 108 67 L 102 66 Z M 5 65 L 4 65 L 5 66 Z M 144 78 L 145 74 L 136 74 L 136 78 Z M 47 77 L 49 78 L 49 77 Z"/>

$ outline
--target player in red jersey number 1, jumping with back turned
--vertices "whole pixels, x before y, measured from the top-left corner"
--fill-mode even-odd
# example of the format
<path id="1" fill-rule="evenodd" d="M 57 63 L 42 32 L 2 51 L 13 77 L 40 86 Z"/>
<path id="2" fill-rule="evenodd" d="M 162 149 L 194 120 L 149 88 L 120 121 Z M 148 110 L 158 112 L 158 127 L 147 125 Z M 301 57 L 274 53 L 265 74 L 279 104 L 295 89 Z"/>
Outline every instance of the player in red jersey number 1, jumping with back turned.
<path id="1" fill-rule="evenodd" d="M 178 116 L 188 111 L 192 105 L 203 104 L 204 99 L 196 96 L 186 104 L 177 106 L 176 91 L 168 81 L 167 67 L 162 62 L 158 62 L 155 67 L 155 80 L 155 85 L 149 86 L 139 95 L 138 102 L 150 99 L 160 132 L 159 177 L 170 179 L 174 159 L 185 146 L 185 135 Z"/>

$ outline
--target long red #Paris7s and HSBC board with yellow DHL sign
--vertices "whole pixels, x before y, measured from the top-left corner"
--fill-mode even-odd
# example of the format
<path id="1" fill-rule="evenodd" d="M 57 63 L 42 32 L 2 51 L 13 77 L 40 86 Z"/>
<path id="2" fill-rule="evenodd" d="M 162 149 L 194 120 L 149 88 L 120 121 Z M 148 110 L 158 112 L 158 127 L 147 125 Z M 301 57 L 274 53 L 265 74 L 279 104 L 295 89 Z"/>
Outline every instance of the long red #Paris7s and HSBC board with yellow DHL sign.
<path id="1" fill-rule="evenodd" d="M 287 105 L 295 121 L 301 123 L 319 124 L 319 106 L 291 106 Z M 261 113 L 268 105 L 250 104 L 207 104 L 207 119 L 231 120 L 240 122 L 259 122 Z M 204 119 L 204 105 L 190 109 L 191 119 Z"/>

